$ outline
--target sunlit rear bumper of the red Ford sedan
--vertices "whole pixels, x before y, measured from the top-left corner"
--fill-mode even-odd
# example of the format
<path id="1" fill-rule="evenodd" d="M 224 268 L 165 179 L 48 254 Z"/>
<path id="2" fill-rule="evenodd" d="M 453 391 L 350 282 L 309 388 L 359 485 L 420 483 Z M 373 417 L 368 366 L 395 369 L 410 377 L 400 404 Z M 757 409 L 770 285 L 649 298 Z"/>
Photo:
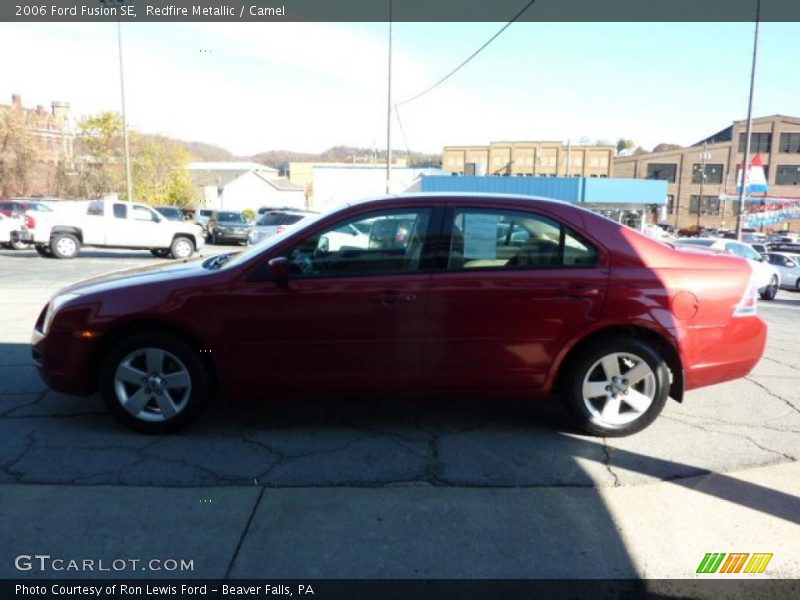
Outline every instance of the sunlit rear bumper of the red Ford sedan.
<path id="1" fill-rule="evenodd" d="M 681 341 L 685 389 L 692 390 L 748 375 L 761 360 L 767 324 L 738 317 L 720 327 L 688 328 Z"/>

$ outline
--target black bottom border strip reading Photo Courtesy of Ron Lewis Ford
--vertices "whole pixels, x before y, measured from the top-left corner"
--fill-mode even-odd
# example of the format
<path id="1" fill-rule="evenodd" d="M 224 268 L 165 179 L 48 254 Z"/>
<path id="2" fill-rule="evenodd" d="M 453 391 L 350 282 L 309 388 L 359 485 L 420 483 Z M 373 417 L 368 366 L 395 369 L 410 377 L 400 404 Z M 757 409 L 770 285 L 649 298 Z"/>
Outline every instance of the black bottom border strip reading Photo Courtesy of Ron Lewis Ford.
<path id="1" fill-rule="evenodd" d="M 126 586 L 126 588 L 123 588 Z M 228 586 L 228 592 L 223 593 Z M 232 587 L 249 588 L 247 594 Z M 267 590 L 269 587 L 269 591 Z M 138 588 L 138 589 L 137 589 Z M 123 591 L 124 589 L 124 591 Z M 186 591 L 191 589 L 191 593 Z M 35 591 L 34 591 L 35 590 Z M 77 590 L 77 591 L 76 591 Z M 97 593 L 99 590 L 99 593 Z M 157 593 L 153 593 L 157 590 Z M 309 590 L 313 593 L 309 593 Z M 783 600 L 800 597 L 796 579 L 4 579 L 0 598 L 70 600 L 205 600 L 222 598 L 305 598 L 313 600 L 633 600 L 748 599 Z"/>

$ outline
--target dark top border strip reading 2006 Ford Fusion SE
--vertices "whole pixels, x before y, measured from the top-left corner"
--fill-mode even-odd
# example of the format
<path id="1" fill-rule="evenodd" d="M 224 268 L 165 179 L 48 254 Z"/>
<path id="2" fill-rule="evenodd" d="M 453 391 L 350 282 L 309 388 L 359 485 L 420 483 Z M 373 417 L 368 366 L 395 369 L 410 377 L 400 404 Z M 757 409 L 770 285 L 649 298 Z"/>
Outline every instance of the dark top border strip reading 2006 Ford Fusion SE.
<path id="1" fill-rule="evenodd" d="M 507 22 L 530 0 L 3 0 L 0 21 Z M 758 0 L 535 0 L 532 22 L 748 22 Z M 800 21 L 800 1 L 761 0 L 761 21 Z M 259 9 L 262 9 L 259 11 Z M 680 39 L 680 28 L 675 30 Z"/>

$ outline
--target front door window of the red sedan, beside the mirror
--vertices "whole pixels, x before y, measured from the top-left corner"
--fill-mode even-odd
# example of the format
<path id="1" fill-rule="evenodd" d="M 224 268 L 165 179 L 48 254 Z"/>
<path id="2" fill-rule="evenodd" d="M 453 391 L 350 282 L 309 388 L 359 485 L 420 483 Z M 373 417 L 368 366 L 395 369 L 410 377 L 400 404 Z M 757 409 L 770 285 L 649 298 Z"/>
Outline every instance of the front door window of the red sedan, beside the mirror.
<path id="1" fill-rule="evenodd" d="M 430 215 L 428 208 L 381 211 L 335 223 L 287 252 L 289 275 L 349 277 L 417 271 Z"/>

